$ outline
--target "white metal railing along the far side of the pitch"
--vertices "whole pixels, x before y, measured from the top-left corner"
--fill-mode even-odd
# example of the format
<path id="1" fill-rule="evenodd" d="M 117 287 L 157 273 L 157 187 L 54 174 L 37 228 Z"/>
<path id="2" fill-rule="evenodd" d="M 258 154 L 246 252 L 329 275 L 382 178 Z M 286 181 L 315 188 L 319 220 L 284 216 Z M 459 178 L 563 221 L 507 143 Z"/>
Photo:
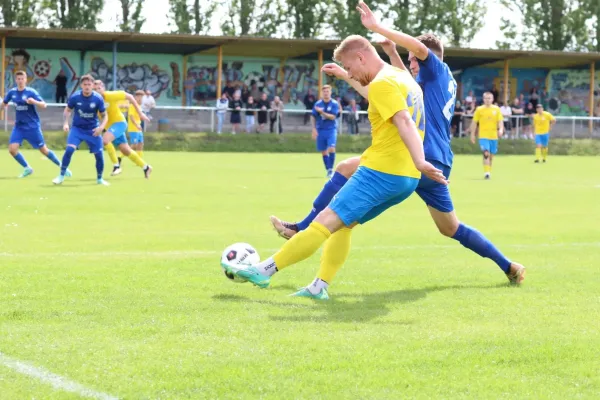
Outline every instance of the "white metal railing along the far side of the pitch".
<path id="1" fill-rule="evenodd" d="M 62 113 L 64 104 L 48 104 L 46 109 L 38 109 L 42 119 L 42 128 L 45 130 L 62 129 Z M 240 130 L 246 132 L 246 109 L 239 110 L 241 114 Z M 258 113 L 254 111 L 254 126 L 250 132 L 256 132 L 258 127 Z M 338 118 L 338 130 L 341 134 L 369 134 L 371 126 L 367 118 L 366 111 L 359 111 L 358 120 L 356 115 L 348 111 L 343 111 Z M 217 132 L 219 126 L 219 117 L 215 107 L 180 107 L 180 106 L 159 106 L 150 113 L 151 123 L 147 125 L 148 132 Z M 274 118 L 272 123 L 272 117 Z M 513 116 L 511 119 L 518 122 L 515 125 L 514 135 L 523 137 L 527 128 L 525 125 L 525 116 Z M 600 138 L 600 118 L 590 117 L 562 117 L 556 116 L 557 123 L 552 129 L 553 137 L 584 139 Z M 223 116 L 222 132 L 231 132 L 231 110 L 228 110 Z M 356 121 L 356 123 L 354 123 Z M 468 135 L 472 116 L 463 116 L 458 124 L 455 136 Z M 8 112 L 4 113 L 5 132 L 12 129 L 14 122 L 14 107 L 9 107 Z M 592 130 L 590 131 L 590 123 Z M 512 121 L 511 121 L 512 124 Z M 512 125 L 511 125 L 512 126 Z M 281 129 L 280 129 L 281 128 Z M 310 122 L 310 110 L 284 109 L 281 114 L 274 111 L 267 111 L 266 125 L 262 127 L 260 133 L 273 132 L 282 133 L 309 133 L 312 130 Z M 508 131 L 507 131 L 508 133 Z M 510 137 L 511 135 L 505 135 Z"/>

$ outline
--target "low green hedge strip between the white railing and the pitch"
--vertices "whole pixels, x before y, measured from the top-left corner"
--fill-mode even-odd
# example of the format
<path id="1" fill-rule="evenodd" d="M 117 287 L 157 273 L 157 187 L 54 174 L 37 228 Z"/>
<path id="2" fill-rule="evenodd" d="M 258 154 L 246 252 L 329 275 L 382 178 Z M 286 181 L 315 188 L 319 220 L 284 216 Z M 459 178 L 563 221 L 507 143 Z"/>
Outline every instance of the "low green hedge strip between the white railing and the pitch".
<path id="1" fill-rule="evenodd" d="M 66 134 L 44 133 L 46 143 L 52 149 L 65 148 Z M 9 133 L 0 132 L 0 143 L 7 147 Z M 315 142 L 308 134 L 206 134 L 206 133 L 146 133 L 145 149 L 160 151 L 203 152 L 264 152 L 264 153 L 314 153 Z M 342 153 L 361 153 L 371 142 L 370 136 L 341 135 L 337 149 Z M 27 145 L 25 147 L 28 147 Z M 83 145 L 82 145 L 83 147 Z M 454 139 L 452 150 L 456 154 L 479 154 L 479 147 L 466 138 Z M 500 154 L 530 155 L 534 151 L 531 140 L 500 140 Z M 600 140 L 553 139 L 550 151 L 554 155 L 600 155 Z"/>

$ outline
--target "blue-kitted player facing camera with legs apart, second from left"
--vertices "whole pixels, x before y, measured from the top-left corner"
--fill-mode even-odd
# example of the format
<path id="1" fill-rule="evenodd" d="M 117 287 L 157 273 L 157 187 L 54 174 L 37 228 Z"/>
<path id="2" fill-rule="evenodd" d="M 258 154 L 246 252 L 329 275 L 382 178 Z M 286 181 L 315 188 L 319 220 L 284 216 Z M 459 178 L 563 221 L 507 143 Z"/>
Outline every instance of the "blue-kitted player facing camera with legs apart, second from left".
<path id="1" fill-rule="evenodd" d="M 86 142 L 90 153 L 96 158 L 96 182 L 99 185 L 108 186 L 108 182 L 102 178 L 104 172 L 102 131 L 108 122 L 104 99 L 99 93 L 94 92 L 94 78 L 91 75 L 82 76 L 80 86 L 81 90 L 69 97 L 67 107 L 65 107 L 63 130 L 69 133 L 67 149 L 63 155 L 60 175 L 52 182 L 55 185 L 63 183 L 73 153 L 79 148 L 81 142 Z M 69 129 L 69 119 L 72 112 L 74 112 L 73 126 Z M 102 117 L 102 122 L 98 121 L 98 115 Z"/>

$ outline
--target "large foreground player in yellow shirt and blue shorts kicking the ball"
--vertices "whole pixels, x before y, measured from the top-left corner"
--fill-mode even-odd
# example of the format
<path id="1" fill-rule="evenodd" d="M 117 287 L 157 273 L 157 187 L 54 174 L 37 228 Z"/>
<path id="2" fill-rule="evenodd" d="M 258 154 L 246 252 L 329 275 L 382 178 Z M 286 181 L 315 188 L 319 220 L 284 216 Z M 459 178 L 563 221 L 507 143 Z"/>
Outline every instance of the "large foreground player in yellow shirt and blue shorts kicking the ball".
<path id="1" fill-rule="evenodd" d="M 423 92 L 410 73 L 385 63 L 373 45 L 358 35 L 344 39 L 333 57 L 351 79 L 369 85 L 371 146 L 331 203 L 281 250 L 257 265 L 222 262 L 227 273 L 261 288 L 269 285 L 274 273 L 310 257 L 323 244 L 321 268 L 333 262 L 341 267 L 350 251 L 352 228 L 404 201 L 416 189 L 421 173 L 447 184 L 443 172 L 425 161 Z M 318 287 L 294 295 L 328 299 L 326 281 L 316 282 Z"/>

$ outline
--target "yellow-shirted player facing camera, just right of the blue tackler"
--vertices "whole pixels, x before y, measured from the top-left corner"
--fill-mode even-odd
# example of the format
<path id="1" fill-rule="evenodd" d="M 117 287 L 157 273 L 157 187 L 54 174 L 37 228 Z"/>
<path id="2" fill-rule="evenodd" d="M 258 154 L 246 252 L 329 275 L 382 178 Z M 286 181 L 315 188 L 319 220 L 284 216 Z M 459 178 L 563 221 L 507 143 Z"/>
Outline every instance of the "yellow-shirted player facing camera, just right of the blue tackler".
<path id="1" fill-rule="evenodd" d="M 483 105 L 477 107 L 471 124 L 471 142 L 475 143 L 475 132 L 479 126 L 479 147 L 483 152 L 483 171 L 485 179 L 490 179 L 492 161 L 498 152 L 498 137 L 504 132 L 504 117 L 500 108 L 492 104 L 494 95 L 483 94 Z"/>

